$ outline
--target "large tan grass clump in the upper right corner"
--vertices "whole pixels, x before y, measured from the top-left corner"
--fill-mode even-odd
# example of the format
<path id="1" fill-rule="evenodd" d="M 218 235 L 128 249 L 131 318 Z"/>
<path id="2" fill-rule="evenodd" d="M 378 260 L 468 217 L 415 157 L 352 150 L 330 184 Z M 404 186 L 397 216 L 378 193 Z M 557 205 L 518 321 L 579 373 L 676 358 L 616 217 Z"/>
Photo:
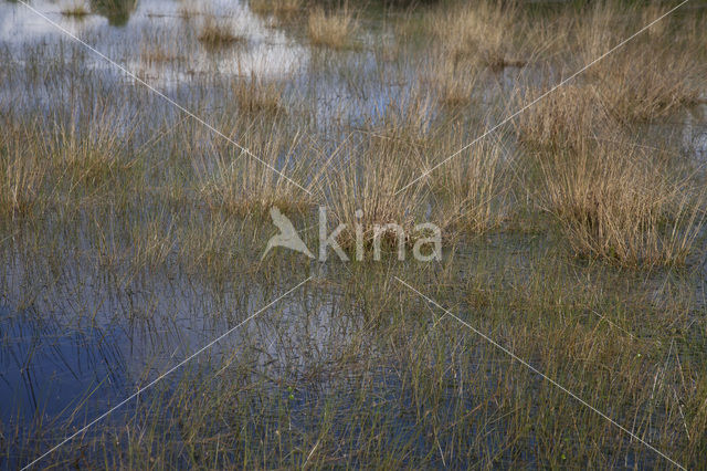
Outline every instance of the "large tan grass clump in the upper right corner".
<path id="1" fill-rule="evenodd" d="M 600 57 L 640 27 L 661 17 L 659 6 L 639 8 L 620 2 L 597 2 L 579 22 L 577 44 L 584 64 Z M 631 21 L 635 19 L 635 21 Z M 694 32 L 665 18 L 648 31 L 587 71 L 606 107 L 620 121 L 645 121 L 669 115 L 695 103 L 707 67 L 696 61 Z"/>

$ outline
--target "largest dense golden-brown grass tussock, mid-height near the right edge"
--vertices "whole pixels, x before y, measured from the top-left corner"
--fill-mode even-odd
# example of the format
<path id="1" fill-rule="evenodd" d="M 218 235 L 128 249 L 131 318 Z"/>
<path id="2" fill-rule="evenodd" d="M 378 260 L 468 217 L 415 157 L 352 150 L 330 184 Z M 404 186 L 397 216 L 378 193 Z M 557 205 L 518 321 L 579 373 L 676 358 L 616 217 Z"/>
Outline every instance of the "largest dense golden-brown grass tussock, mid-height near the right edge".
<path id="1" fill-rule="evenodd" d="M 598 143 L 541 158 L 546 205 L 574 252 L 625 266 L 683 264 L 705 222 L 705 192 L 669 158 Z"/>

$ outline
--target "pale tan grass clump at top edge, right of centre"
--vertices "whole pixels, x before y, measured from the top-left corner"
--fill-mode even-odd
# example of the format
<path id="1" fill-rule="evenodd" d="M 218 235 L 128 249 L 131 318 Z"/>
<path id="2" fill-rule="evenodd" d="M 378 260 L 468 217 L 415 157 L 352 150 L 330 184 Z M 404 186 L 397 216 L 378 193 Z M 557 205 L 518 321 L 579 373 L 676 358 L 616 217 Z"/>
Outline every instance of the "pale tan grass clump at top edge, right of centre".
<path id="1" fill-rule="evenodd" d="M 442 41 L 445 54 L 453 60 L 471 60 L 492 70 L 520 65 L 514 38 L 519 14 L 514 3 L 498 1 L 460 4 L 432 19 L 432 31 Z"/>

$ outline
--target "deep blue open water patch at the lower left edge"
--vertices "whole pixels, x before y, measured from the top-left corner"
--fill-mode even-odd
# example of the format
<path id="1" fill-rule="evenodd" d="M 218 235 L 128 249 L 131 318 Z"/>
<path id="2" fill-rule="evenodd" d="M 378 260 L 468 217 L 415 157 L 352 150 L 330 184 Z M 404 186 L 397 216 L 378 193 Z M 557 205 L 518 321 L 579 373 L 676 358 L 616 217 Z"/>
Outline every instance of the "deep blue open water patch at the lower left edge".
<path id="1" fill-rule="evenodd" d="M 84 402 L 99 408 L 124 388 L 126 365 L 117 328 L 56 325 L 52 318 L 0 311 L 2 420 L 67 418 Z"/>

